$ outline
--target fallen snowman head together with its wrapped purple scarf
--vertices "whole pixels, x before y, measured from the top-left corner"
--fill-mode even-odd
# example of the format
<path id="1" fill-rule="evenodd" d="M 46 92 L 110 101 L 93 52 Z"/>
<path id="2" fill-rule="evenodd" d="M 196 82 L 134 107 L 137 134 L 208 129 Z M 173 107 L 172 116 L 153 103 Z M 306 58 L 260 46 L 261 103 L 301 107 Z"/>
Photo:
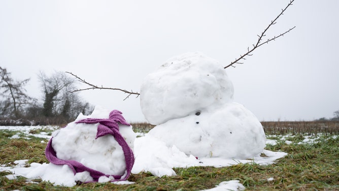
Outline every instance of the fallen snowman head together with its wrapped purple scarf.
<path id="1" fill-rule="evenodd" d="M 56 185 L 76 182 L 127 180 L 133 163 L 136 135 L 122 112 L 96 106 L 91 115 L 77 119 L 53 133 L 45 150 Z"/>

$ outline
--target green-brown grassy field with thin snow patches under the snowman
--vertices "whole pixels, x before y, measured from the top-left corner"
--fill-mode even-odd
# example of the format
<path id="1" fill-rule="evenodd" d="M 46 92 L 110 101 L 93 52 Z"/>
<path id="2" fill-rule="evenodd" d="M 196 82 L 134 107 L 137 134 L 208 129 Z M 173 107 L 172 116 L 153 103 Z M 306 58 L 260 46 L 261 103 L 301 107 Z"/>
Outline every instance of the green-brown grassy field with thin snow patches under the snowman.
<path id="1" fill-rule="evenodd" d="M 222 181 L 239 180 L 246 190 L 339 190 L 339 122 L 262 122 L 267 150 L 287 152 L 276 164 L 255 163 L 224 168 L 191 167 L 174 169 L 177 176 L 154 177 L 150 173 L 132 174 L 129 185 L 88 183 L 74 187 L 53 186 L 49 182 L 27 181 L 24 177 L 7 178 L 0 172 L 0 190 L 202 190 Z M 132 124 L 135 132 L 147 133 L 153 125 Z M 45 130 L 42 130 L 45 131 Z M 0 165 L 11 166 L 16 160 L 47 163 L 44 155 L 47 139 L 18 131 L 0 130 Z M 31 131 L 30 135 L 41 132 Z M 46 130 L 46 135 L 51 132 Z M 10 139 L 12 136 L 21 138 Z M 274 143 L 274 144 L 273 144 Z"/>

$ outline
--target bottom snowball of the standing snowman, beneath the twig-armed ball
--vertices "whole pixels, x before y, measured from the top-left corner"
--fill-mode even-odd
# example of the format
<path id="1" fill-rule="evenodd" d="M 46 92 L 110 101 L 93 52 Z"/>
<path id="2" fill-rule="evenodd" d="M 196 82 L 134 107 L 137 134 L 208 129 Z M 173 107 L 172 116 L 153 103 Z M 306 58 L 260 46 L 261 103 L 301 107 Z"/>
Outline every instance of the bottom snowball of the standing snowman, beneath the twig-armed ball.
<path id="1" fill-rule="evenodd" d="M 148 134 L 197 157 L 251 158 L 265 147 L 261 123 L 234 102 L 169 120 Z"/>

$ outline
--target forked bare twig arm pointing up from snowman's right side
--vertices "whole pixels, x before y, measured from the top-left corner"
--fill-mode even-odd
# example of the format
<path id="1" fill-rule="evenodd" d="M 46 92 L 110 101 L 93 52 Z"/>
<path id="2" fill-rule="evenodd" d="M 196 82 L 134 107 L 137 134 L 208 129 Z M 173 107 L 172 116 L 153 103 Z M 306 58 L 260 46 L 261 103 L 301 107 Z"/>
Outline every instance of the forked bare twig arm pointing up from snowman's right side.
<path id="1" fill-rule="evenodd" d="M 268 43 L 268 42 L 270 42 L 270 41 L 276 40 L 277 38 L 279 38 L 279 37 L 281 37 L 281 36 L 284 36 L 286 33 L 288 33 L 289 31 L 291 31 L 292 29 L 294 29 L 295 26 L 293 26 L 292 28 L 290 28 L 290 29 L 288 29 L 287 31 L 285 31 L 285 33 L 282 33 L 282 34 L 280 34 L 280 35 L 278 35 L 278 36 L 275 36 L 275 37 L 272 38 L 272 39 L 268 39 L 268 40 L 266 40 L 265 42 L 261 42 L 261 41 L 262 41 L 262 38 L 266 36 L 265 33 L 266 33 L 266 31 L 268 30 L 268 28 L 269 28 L 270 26 L 272 26 L 272 25 L 274 25 L 274 24 L 277 23 L 277 19 L 278 19 L 281 15 L 283 15 L 283 13 L 286 11 L 286 9 L 287 9 L 289 6 L 291 6 L 293 2 L 294 2 L 294 0 L 290 1 L 290 3 L 285 7 L 285 9 L 282 9 L 281 13 L 280 13 L 274 20 L 272 20 L 272 21 L 268 24 L 268 26 L 264 29 L 264 31 L 261 33 L 261 35 L 260 35 L 260 36 L 257 35 L 257 36 L 258 36 L 258 41 L 256 42 L 256 44 L 253 44 L 253 48 L 252 48 L 251 50 L 249 50 L 249 48 L 247 48 L 247 52 L 246 52 L 245 54 L 240 55 L 239 58 L 236 58 L 236 59 L 235 59 L 234 61 L 232 61 L 229 65 L 227 65 L 226 67 L 224 67 L 224 69 L 226 69 L 226 68 L 228 68 L 228 67 L 234 65 L 234 63 L 239 63 L 238 61 L 241 60 L 241 59 L 243 59 L 245 56 L 251 56 L 251 55 L 253 55 L 253 54 L 250 54 L 250 53 L 251 53 L 253 50 L 255 50 L 256 48 L 258 48 L 259 46 L 261 46 L 261 45 L 263 45 L 263 44 L 265 44 L 265 43 Z M 232 66 L 232 67 L 235 68 L 234 66 Z"/>

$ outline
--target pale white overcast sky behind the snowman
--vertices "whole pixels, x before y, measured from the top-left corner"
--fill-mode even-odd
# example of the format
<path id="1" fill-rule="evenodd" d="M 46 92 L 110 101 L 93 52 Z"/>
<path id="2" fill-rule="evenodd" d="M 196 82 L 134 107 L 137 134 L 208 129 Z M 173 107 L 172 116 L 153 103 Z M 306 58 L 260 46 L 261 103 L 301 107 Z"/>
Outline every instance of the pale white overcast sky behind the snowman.
<path id="1" fill-rule="evenodd" d="M 68 71 L 96 85 L 140 91 L 143 78 L 168 58 L 200 51 L 228 65 L 289 1 L 0 1 L 0 66 L 30 78 Z M 296 0 L 243 65 L 227 68 L 234 101 L 259 120 L 313 120 L 339 110 L 339 1 Z M 112 90 L 80 96 L 145 121 L 140 99 Z"/>

